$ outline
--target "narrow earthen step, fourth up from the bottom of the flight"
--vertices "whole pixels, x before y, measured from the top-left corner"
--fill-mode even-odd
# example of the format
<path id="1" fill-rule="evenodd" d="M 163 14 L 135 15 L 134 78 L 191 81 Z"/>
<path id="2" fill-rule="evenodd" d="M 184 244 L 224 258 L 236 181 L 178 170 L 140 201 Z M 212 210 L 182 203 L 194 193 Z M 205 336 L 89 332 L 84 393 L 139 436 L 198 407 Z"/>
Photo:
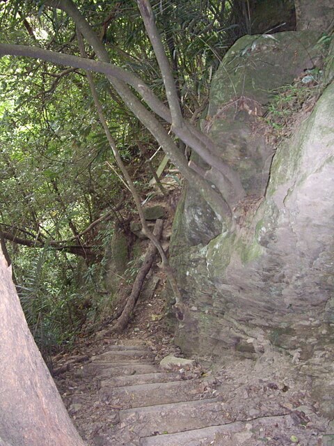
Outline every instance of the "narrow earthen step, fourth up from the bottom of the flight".
<path id="1" fill-rule="evenodd" d="M 100 379 L 112 378 L 120 375 L 150 374 L 159 371 L 159 368 L 150 362 L 93 362 L 78 369 L 76 374 L 81 377 L 98 377 Z"/>

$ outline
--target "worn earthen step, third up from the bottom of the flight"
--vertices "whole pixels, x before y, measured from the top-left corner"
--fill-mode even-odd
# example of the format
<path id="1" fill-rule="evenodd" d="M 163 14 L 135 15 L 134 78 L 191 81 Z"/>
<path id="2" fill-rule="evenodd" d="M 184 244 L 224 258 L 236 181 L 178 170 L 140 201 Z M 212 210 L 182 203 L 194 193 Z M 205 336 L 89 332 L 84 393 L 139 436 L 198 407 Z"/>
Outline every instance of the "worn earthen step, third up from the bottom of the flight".
<path id="1" fill-rule="evenodd" d="M 124 408 L 134 408 L 200 399 L 201 393 L 200 380 L 179 380 L 125 387 L 106 386 L 100 389 L 100 399 L 110 403 L 122 401 Z"/>

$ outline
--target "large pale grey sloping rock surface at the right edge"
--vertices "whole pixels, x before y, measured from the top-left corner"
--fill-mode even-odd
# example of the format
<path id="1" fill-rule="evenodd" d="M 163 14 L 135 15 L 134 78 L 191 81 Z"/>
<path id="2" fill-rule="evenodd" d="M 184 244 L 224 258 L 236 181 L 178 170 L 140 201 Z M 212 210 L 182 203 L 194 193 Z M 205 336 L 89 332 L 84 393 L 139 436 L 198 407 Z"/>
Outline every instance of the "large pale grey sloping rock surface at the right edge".
<path id="1" fill-rule="evenodd" d="M 278 345 L 286 332 L 293 348 L 299 344 L 302 330 L 294 327 L 301 318 L 324 320 L 326 314 L 326 321 L 333 323 L 333 95 L 334 85 L 324 92 L 294 139 L 276 154 L 267 199 L 249 223 L 250 229 L 232 236 L 223 233 L 200 252 L 173 258 L 182 275 L 180 283 L 185 281 L 184 288 L 190 290 L 189 302 L 209 318 L 204 325 L 198 319 L 201 326 L 196 325 L 195 331 L 207 332 L 210 327 L 210 337 L 223 337 L 227 344 L 233 340 L 237 348 L 242 336 L 233 332 L 240 327 L 234 326 L 228 336 L 223 328 L 231 318 L 246 321 L 248 328 L 261 327 L 257 337 L 271 326 Z M 222 321 L 214 316 L 208 298 L 207 308 L 202 305 L 202 295 L 212 286 Z M 195 312 L 193 318 L 198 318 Z M 186 321 L 182 324 L 189 330 Z M 219 334 L 217 324 L 224 334 Z"/>

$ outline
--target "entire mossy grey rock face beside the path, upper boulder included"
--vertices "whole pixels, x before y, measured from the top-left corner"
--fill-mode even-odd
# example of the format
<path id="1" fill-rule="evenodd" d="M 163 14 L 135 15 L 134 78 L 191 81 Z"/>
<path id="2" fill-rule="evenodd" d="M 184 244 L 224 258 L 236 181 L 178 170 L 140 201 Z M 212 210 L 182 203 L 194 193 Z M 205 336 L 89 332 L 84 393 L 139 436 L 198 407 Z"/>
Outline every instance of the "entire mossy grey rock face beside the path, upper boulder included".
<path id="1" fill-rule="evenodd" d="M 315 66 L 318 39 L 315 31 L 245 36 L 216 73 L 202 128 L 248 196 L 234 209 L 233 233 L 218 233 L 190 187 L 180 201 L 170 252 L 189 309 L 175 336 L 186 353 L 257 357 L 275 346 L 311 376 L 315 358 L 333 360 L 334 84 L 278 148 L 260 118 L 273 89 Z M 321 408 L 334 414 L 330 401 Z"/>

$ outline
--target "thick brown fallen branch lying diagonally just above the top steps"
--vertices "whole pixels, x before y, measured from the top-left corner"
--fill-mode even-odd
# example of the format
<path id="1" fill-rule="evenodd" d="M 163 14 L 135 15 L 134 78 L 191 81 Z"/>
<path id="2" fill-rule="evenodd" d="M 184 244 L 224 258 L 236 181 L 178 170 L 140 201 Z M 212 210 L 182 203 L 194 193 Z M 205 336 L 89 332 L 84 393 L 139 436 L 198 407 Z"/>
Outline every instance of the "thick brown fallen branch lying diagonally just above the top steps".
<path id="1" fill-rule="evenodd" d="M 157 238 L 157 240 L 159 240 L 161 237 L 163 226 L 164 220 L 157 220 L 157 222 L 155 223 L 153 234 Z M 132 286 L 132 292 L 129 296 L 129 299 L 127 300 L 127 304 L 125 305 L 121 316 L 118 318 L 116 325 L 114 325 L 111 329 L 112 332 L 120 333 L 127 327 L 129 318 L 134 310 L 139 294 L 141 293 L 145 277 L 148 275 L 148 272 L 152 268 L 152 263 L 156 253 L 157 247 L 155 247 L 155 245 L 151 242 L 145 254 L 143 265 L 136 275 L 134 285 Z"/>

